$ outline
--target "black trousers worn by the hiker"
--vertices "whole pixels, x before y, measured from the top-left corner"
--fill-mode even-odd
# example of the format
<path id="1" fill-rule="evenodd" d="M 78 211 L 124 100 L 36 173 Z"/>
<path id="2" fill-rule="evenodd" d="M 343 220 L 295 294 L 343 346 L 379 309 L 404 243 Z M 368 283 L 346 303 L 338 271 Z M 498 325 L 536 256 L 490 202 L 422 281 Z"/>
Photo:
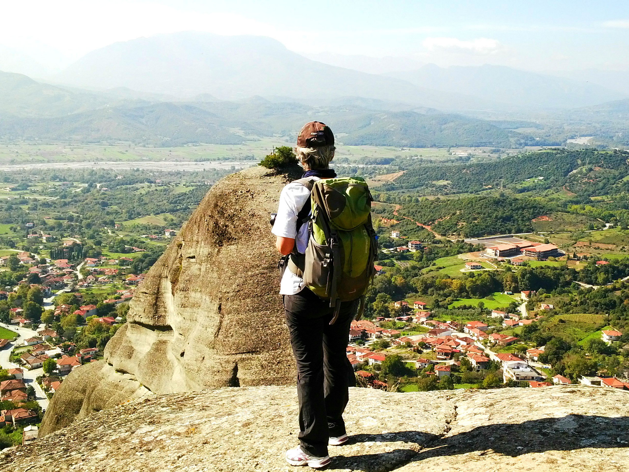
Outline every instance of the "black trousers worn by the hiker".
<path id="1" fill-rule="evenodd" d="M 348 386 L 355 384 L 345 352 L 358 305 L 358 300 L 342 303 L 337 322 L 330 325 L 334 313 L 329 301 L 308 288 L 284 295 L 286 324 L 297 361 L 299 442 L 312 456 L 327 456 L 328 437 L 345 434 L 343 411 Z"/>

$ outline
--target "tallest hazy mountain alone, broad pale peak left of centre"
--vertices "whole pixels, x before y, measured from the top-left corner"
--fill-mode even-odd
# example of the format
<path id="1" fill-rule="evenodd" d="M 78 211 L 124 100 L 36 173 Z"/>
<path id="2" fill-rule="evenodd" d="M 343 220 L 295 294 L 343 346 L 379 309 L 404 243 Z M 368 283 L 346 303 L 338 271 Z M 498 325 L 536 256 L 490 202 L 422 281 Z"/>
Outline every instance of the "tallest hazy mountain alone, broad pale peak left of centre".
<path id="1" fill-rule="evenodd" d="M 482 108 L 484 101 L 306 59 L 266 37 L 183 32 L 114 43 L 70 65 L 55 81 L 190 99 L 287 96 L 303 103 L 360 96 L 440 110 Z"/>

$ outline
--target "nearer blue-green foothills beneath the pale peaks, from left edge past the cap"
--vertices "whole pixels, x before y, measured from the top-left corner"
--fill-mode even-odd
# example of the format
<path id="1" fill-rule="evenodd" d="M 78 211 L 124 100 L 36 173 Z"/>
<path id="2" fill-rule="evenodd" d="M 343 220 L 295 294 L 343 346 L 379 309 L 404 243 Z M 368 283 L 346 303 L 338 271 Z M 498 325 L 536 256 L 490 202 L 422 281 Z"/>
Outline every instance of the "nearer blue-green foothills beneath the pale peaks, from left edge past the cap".
<path id="1" fill-rule="evenodd" d="M 379 110 L 388 106 L 389 110 Z M 397 108 L 396 110 L 392 110 Z M 152 145 L 235 144 L 259 137 L 294 136 L 304 122 L 328 122 L 338 142 L 411 147 L 511 147 L 533 138 L 488 121 L 431 108 L 343 97 L 335 105 L 270 101 L 254 96 L 223 101 L 204 94 L 194 101 L 110 89 L 104 93 L 52 86 L 0 72 L 0 138 Z"/>

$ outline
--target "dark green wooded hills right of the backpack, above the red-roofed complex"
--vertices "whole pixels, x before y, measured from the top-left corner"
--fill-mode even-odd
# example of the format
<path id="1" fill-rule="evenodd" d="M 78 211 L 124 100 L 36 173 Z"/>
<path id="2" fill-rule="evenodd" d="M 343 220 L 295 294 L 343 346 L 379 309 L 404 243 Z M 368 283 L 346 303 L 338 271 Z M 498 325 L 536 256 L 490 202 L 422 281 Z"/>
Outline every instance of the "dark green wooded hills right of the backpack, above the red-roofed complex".
<path id="1" fill-rule="evenodd" d="M 471 164 L 407 164 L 392 183 L 374 189 L 378 201 L 395 203 L 396 210 L 379 206 L 376 212 L 408 218 L 398 224 L 420 223 L 461 237 L 533 232 L 532 220 L 550 214 L 555 223 L 547 229 L 554 231 L 603 222 L 627 225 L 627 159 L 629 152 L 618 150 L 547 150 Z M 395 169 L 396 162 L 387 167 Z M 404 234 L 418 230 L 405 228 Z"/>

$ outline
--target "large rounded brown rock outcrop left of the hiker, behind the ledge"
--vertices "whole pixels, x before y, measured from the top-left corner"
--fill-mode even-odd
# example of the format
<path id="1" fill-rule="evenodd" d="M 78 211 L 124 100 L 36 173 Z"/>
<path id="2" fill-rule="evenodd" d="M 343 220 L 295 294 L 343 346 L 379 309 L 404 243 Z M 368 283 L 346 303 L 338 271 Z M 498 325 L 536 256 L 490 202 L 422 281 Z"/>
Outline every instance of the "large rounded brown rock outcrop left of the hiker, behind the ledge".
<path id="1" fill-rule="evenodd" d="M 40 435 L 148 391 L 294 381 L 269 215 L 299 172 L 252 167 L 211 188 L 136 290 L 104 362 L 55 393 Z"/>

